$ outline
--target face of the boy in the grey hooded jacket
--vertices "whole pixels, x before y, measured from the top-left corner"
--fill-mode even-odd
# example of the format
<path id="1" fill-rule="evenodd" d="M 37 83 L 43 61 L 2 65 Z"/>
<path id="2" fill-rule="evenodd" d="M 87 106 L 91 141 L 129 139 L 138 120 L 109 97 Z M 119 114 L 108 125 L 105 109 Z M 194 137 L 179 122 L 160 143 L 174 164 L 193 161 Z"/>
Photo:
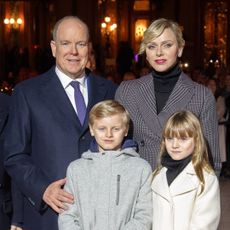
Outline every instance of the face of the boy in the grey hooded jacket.
<path id="1" fill-rule="evenodd" d="M 95 137 L 99 151 L 120 150 L 121 143 L 128 133 L 128 127 L 120 114 L 96 119 L 90 125 L 90 133 Z"/>

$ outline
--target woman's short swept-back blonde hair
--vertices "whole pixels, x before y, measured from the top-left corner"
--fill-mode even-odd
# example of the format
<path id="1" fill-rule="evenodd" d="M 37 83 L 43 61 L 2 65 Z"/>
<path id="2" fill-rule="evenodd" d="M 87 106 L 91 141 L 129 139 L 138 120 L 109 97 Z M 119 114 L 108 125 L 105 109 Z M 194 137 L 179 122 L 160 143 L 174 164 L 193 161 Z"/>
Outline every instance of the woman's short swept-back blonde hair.
<path id="1" fill-rule="evenodd" d="M 144 32 L 144 37 L 140 44 L 139 54 L 145 53 L 147 45 L 152 42 L 152 40 L 159 37 L 165 29 L 171 29 L 173 31 L 176 36 L 179 48 L 185 46 L 185 40 L 183 39 L 182 30 L 178 23 L 169 19 L 160 18 L 153 21 L 152 24 Z"/>

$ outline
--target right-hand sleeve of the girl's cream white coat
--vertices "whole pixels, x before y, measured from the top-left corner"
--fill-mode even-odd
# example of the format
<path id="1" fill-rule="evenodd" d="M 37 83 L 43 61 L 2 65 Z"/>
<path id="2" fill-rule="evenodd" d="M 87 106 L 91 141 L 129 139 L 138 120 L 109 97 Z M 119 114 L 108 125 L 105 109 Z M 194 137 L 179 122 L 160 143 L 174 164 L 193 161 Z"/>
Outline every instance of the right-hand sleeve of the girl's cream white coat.
<path id="1" fill-rule="evenodd" d="M 204 191 L 195 200 L 190 230 L 216 230 L 220 221 L 220 191 L 215 175 L 205 177 Z"/>

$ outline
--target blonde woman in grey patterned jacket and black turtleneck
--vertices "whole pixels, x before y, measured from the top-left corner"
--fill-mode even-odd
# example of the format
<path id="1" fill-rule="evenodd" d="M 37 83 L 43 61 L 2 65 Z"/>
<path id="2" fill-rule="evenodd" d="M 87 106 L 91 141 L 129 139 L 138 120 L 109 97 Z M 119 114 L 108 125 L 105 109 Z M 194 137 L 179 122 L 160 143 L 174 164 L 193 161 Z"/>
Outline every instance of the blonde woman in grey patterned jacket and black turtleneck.
<path id="1" fill-rule="evenodd" d="M 139 53 L 145 54 L 152 72 L 133 81 L 123 81 L 115 98 L 128 110 L 133 139 L 139 154 L 154 170 L 160 151 L 162 127 L 175 112 L 189 110 L 199 117 L 217 174 L 221 163 L 215 98 L 205 86 L 190 79 L 179 65 L 185 40 L 181 27 L 160 18 L 144 33 Z"/>

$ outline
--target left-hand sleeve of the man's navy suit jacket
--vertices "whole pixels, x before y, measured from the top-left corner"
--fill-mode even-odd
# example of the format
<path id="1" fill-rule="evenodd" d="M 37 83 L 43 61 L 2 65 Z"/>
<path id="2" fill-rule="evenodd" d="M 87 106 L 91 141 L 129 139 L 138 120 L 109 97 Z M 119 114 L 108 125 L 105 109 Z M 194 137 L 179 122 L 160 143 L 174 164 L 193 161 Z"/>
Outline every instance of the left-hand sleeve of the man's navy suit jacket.
<path id="1" fill-rule="evenodd" d="M 51 181 L 32 161 L 30 108 L 23 90 L 19 88 L 15 88 L 11 96 L 4 142 L 4 164 L 7 172 L 30 203 L 38 211 L 43 211 L 42 196 Z"/>

